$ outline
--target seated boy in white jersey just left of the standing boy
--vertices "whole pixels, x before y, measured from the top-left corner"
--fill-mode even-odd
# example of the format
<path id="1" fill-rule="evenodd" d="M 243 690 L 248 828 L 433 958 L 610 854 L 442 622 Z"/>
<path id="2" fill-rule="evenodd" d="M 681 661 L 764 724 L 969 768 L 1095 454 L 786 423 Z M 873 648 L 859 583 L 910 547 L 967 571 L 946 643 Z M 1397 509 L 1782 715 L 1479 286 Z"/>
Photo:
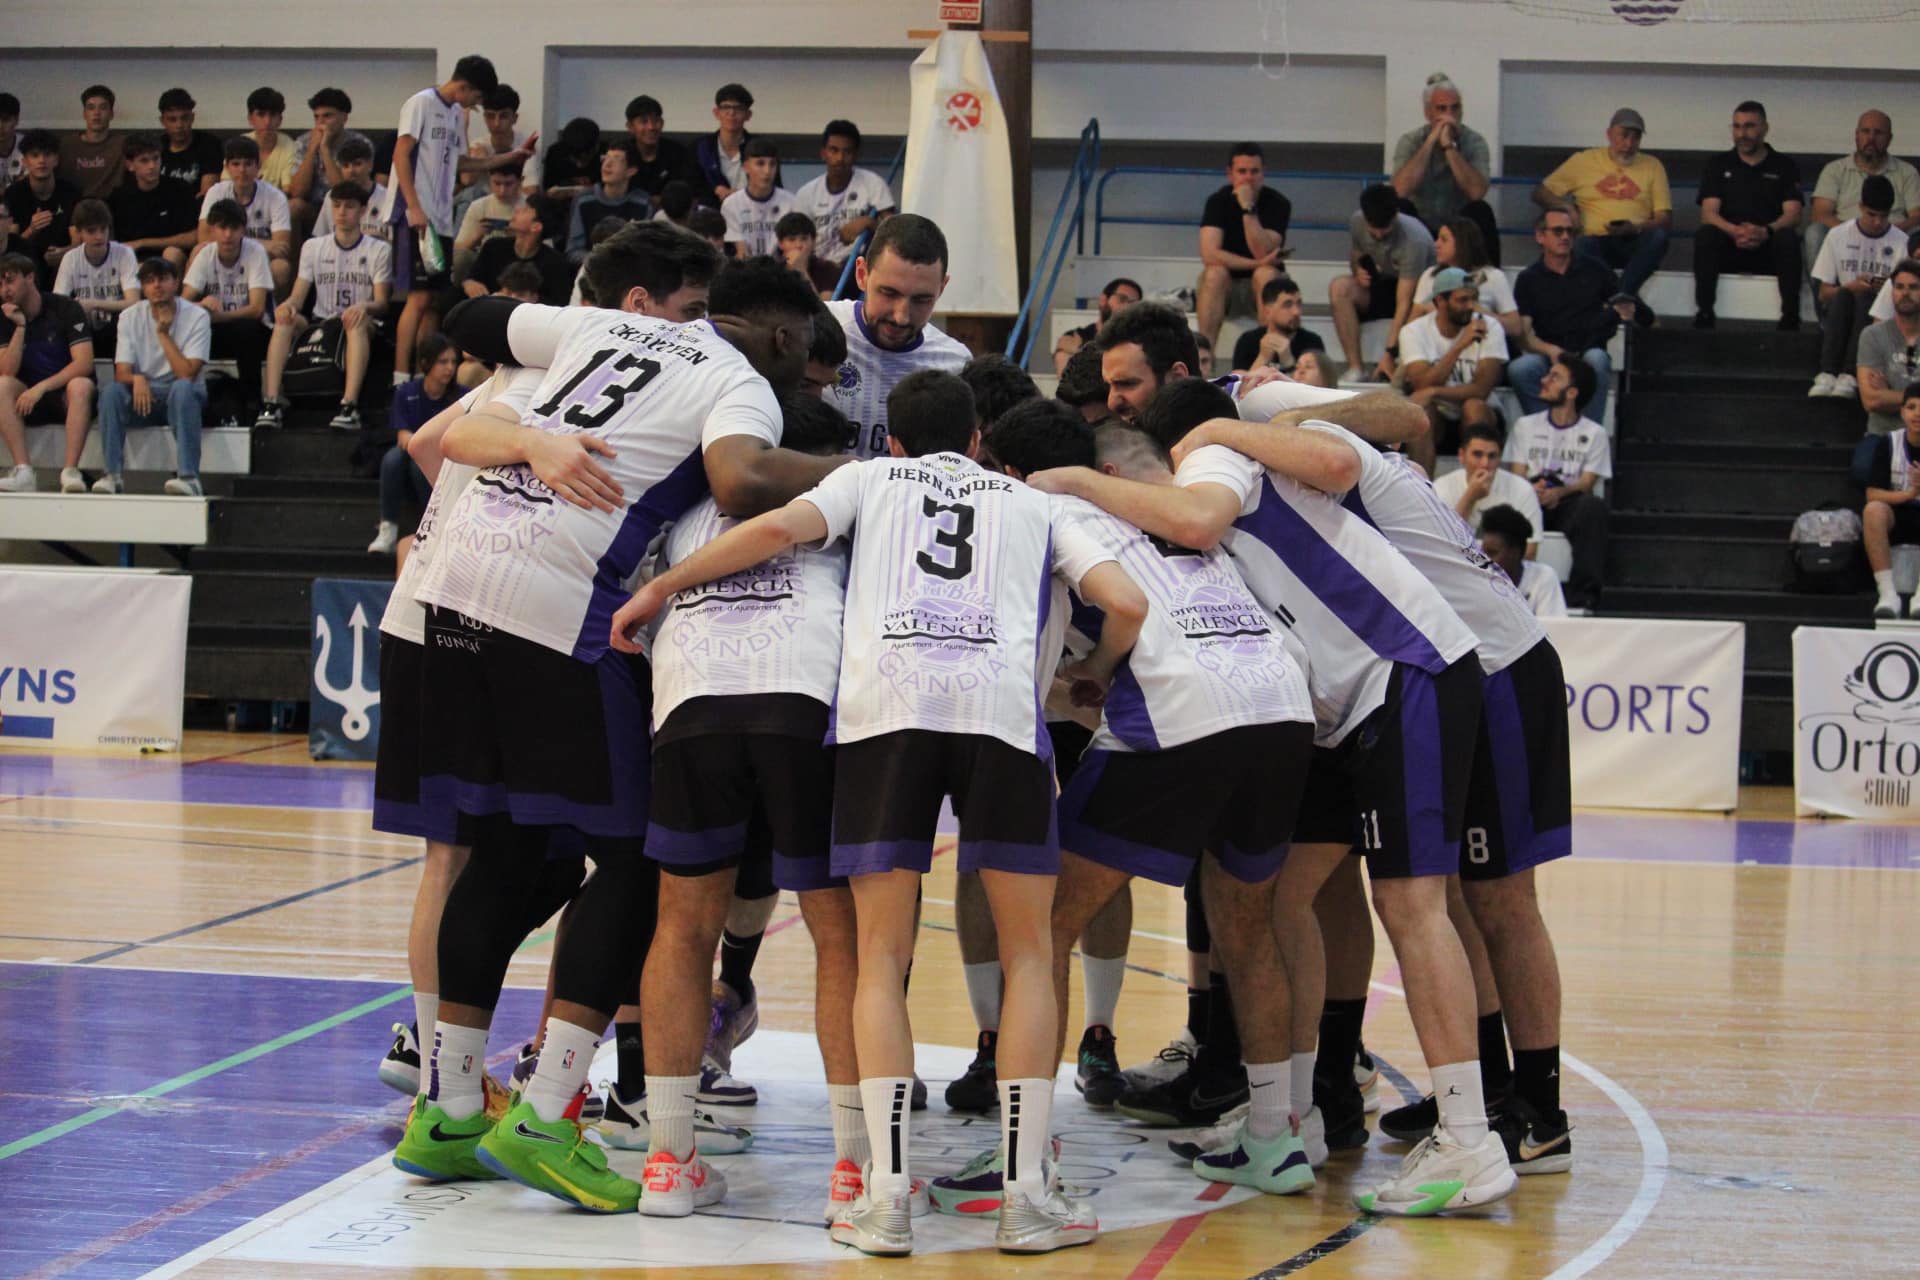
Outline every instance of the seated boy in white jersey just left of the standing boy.
<path id="1" fill-rule="evenodd" d="M 294 292 L 275 313 L 263 386 L 267 405 L 255 426 L 280 424 L 284 411 L 280 376 L 286 372 L 286 357 L 292 355 L 294 342 L 317 322 L 346 342 L 346 388 L 332 426 L 344 432 L 359 430 L 361 386 L 367 382 L 372 342 L 380 334 L 380 320 L 394 294 L 394 253 L 384 240 L 361 230 L 361 217 L 367 213 L 365 186 L 336 182 L 326 200 L 334 207 L 334 234 L 300 246 L 300 276 L 294 280 Z M 311 322 L 303 315 L 309 296 Z"/>

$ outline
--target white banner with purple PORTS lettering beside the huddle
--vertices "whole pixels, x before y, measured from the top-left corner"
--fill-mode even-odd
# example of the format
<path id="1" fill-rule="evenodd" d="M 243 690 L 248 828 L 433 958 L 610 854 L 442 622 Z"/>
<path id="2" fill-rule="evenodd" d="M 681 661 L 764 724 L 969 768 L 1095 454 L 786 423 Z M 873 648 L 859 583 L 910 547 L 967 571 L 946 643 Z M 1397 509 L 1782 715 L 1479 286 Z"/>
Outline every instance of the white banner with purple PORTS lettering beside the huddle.
<path id="1" fill-rule="evenodd" d="M 1546 618 L 1567 672 L 1572 802 L 1732 810 L 1740 800 L 1740 622 Z"/>

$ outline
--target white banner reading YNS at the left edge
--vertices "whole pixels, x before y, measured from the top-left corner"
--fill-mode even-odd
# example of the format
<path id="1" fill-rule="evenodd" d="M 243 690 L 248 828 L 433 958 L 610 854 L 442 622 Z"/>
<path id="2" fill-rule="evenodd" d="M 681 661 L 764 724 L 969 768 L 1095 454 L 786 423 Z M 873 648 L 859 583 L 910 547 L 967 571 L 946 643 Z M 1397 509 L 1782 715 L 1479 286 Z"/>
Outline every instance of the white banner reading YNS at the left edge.
<path id="1" fill-rule="evenodd" d="M 180 745 L 186 574 L 0 568 L 0 743 Z"/>

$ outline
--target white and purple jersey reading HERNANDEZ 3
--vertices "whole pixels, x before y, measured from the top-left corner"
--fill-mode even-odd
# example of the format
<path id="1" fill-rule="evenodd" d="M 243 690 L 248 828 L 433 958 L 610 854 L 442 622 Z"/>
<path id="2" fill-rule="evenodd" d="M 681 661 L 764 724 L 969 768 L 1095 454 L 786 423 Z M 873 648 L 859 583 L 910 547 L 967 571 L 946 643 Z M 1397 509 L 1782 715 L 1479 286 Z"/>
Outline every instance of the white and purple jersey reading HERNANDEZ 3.
<path id="1" fill-rule="evenodd" d="M 1077 589 L 1114 555 L 1056 516 L 1060 499 L 958 453 L 841 466 L 803 497 L 824 545 L 852 535 L 829 741 L 931 729 L 1046 758 L 1054 578 Z"/>

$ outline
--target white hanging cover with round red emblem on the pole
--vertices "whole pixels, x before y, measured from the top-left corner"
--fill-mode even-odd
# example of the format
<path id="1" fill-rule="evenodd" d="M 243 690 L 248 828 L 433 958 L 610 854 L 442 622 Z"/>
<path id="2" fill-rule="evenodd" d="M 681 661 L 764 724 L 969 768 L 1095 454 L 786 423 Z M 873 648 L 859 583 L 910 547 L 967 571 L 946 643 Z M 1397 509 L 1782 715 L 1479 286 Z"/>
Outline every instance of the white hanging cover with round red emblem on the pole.
<path id="1" fill-rule="evenodd" d="M 900 211 L 947 232 L 941 311 L 1014 315 L 1014 155 L 977 31 L 945 31 L 914 59 Z"/>

